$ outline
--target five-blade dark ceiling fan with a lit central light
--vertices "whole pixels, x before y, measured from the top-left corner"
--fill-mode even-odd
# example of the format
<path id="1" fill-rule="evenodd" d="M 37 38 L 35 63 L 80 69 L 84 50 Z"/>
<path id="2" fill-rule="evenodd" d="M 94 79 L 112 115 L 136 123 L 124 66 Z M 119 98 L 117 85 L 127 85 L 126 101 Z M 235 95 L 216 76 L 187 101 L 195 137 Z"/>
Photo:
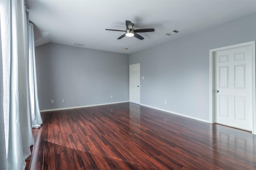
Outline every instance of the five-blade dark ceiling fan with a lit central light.
<path id="1" fill-rule="evenodd" d="M 139 34 L 137 34 L 138 32 L 154 32 L 154 28 L 145 28 L 145 29 L 138 29 L 138 30 L 134 30 L 133 26 L 134 24 L 128 20 L 126 20 L 126 30 L 111 30 L 111 29 L 106 29 L 108 31 L 121 31 L 121 32 L 125 32 L 125 34 L 123 34 L 122 36 L 120 36 L 118 38 L 118 40 L 120 40 L 121 38 L 124 38 L 125 36 L 127 37 L 136 37 L 140 40 L 143 40 L 144 38 L 142 36 L 140 36 Z"/>

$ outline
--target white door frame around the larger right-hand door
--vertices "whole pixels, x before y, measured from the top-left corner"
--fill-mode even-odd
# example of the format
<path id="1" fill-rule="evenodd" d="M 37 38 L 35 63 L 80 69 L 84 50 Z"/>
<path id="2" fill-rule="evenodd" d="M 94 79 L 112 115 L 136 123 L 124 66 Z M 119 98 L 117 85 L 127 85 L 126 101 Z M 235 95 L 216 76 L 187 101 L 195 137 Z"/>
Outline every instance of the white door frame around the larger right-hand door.
<path id="1" fill-rule="evenodd" d="M 249 46 L 252 49 L 252 134 L 256 134 L 256 73 L 255 73 L 255 41 L 210 49 L 210 123 L 215 123 L 215 58 L 216 51 Z"/>

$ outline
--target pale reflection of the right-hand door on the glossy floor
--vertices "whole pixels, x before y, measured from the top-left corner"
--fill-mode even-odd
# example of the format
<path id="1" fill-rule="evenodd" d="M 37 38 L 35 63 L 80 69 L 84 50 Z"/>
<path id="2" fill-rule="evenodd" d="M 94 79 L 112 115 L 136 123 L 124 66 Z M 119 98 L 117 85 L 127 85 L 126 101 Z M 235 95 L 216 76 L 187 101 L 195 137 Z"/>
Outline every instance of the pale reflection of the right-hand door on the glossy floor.
<path id="1" fill-rule="evenodd" d="M 218 124 L 210 124 L 209 141 L 212 142 L 212 155 L 218 153 L 220 159 L 225 156 L 230 160 L 240 158 L 241 161 L 253 164 L 256 161 L 256 135 L 243 130 L 233 129 Z M 251 138 L 248 138 L 251 136 Z M 215 164 L 217 164 L 215 162 Z"/>

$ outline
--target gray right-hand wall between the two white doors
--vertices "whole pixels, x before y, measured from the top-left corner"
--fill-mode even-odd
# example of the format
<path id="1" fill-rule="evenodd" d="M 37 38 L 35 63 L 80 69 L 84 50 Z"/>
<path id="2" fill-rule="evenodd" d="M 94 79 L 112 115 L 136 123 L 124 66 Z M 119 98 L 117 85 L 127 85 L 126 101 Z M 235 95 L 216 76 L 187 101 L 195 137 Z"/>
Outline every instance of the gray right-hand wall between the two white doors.
<path id="1" fill-rule="evenodd" d="M 144 76 L 140 103 L 209 121 L 209 50 L 255 40 L 256 13 L 130 54 Z"/>

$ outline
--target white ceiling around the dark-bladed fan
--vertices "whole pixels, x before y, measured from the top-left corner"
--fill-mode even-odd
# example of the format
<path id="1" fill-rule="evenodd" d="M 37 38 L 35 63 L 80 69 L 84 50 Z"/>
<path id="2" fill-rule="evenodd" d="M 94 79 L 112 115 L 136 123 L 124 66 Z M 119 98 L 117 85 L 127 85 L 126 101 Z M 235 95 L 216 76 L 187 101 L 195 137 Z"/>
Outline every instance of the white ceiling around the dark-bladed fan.
<path id="1" fill-rule="evenodd" d="M 25 0 L 34 23 L 36 46 L 53 42 L 85 44 L 85 48 L 133 53 L 256 12 L 256 0 Z M 125 21 L 144 40 L 124 37 Z M 171 30 L 178 34 L 167 36 Z M 124 48 L 128 48 L 125 50 Z"/>

